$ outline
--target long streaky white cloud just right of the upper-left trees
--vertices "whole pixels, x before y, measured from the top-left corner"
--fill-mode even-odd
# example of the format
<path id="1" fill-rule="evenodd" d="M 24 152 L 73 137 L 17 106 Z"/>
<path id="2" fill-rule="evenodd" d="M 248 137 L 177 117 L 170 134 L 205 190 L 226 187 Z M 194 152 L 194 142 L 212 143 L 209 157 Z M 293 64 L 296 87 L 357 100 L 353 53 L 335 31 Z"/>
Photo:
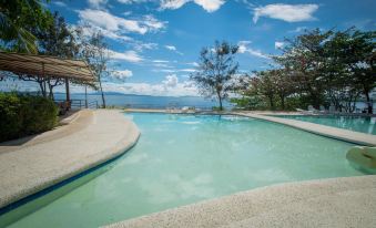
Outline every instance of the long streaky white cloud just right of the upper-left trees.
<path id="1" fill-rule="evenodd" d="M 156 20 L 153 15 L 145 15 L 140 20 L 129 20 L 113 15 L 103 10 L 79 10 L 79 18 L 82 23 L 89 23 L 116 34 L 135 32 L 144 34 L 151 31 L 157 31 L 164 28 L 165 22 Z"/>

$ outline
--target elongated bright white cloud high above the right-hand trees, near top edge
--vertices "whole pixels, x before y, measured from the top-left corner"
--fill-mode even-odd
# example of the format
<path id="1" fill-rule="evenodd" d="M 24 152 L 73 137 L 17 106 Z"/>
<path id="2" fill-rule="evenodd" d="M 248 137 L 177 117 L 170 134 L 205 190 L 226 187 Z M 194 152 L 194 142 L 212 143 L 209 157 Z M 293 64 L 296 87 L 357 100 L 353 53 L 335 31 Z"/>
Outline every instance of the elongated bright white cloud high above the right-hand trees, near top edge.
<path id="1" fill-rule="evenodd" d="M 312 15 L 318 9 L 318 4 L 267 4 L 254 9 L 253 22 L 256 23 L 260 17 L 280 19 L 287 22 L 315 20 Z"/>

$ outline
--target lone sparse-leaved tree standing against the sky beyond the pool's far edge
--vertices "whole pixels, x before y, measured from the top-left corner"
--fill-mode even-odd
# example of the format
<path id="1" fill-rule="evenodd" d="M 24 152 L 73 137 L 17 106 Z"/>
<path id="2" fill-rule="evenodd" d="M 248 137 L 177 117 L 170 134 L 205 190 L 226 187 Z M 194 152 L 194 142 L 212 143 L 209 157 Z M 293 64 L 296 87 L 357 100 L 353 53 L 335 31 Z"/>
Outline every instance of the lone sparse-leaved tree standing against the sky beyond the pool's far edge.
<path id="1" fill-rule="evenodd" d="M 202 49 L 197 71 L 190 75 L 202 95 L 219 100 L 221 111 L 223 100 L 227 99 L 235 87 L 233 77 L 237 73 L 238 63 L 234 56 L 237 50 L 237 45 L 215 41 L 213 48 Z"/>

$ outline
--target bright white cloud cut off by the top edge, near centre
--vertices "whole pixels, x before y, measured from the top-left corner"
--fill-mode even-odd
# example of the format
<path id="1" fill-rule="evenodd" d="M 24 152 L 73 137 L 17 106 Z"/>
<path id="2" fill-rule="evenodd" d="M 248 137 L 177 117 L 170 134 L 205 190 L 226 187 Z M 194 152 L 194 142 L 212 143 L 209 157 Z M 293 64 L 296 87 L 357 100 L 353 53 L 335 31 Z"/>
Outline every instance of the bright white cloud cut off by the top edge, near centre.
<path id="1" fill-rule="evenodd" d="M 207 12 L 214 12 L 225 3 L 225 0 L 162 0 L 160 8 L 162 10 L 176 10 L 191 1 L 201 6 Z"/>

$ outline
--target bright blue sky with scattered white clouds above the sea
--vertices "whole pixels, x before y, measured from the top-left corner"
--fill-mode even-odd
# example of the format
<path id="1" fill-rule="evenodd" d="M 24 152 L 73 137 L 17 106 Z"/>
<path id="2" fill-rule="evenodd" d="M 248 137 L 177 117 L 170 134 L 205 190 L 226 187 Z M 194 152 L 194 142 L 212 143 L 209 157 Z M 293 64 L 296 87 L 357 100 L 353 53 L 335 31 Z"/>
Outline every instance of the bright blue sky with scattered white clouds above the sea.
<path id="1" fill-rule="evenodd" d="M 375 0 L 52 0 L 47 8 L 104 34 L 116 71 L 104 91 L 126 94 L 197 95 L 189 75 L 215 40 L 237 44 L 240 71 L 252 72 L 305 29 L 376 29 Z"/>

